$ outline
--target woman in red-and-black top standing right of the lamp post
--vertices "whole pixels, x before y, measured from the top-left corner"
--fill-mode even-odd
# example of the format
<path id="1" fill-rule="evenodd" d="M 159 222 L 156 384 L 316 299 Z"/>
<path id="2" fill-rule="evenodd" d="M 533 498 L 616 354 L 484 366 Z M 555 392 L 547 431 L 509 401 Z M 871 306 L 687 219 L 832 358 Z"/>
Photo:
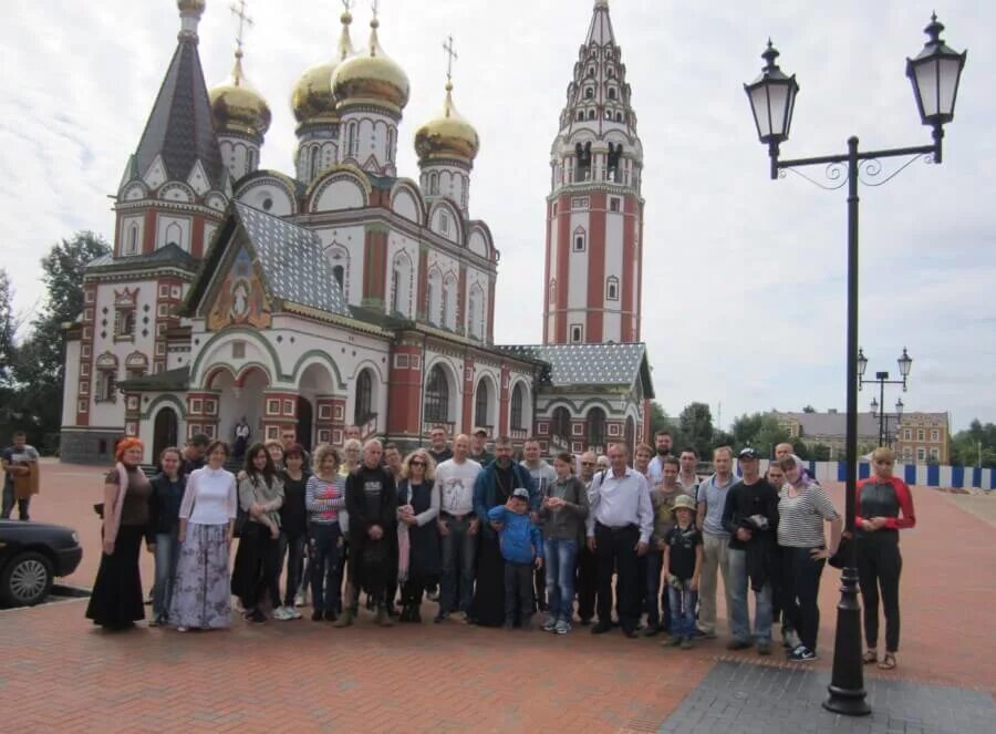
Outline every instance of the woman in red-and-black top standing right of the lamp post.
<path id="1" fill-rule="evenodd" d="M 895 454 L 879 447 L 872 454 L 874 475 L 858 483 L 858 579 L 864 598 L 864 663 L 879 662 L 879 593 L 885 613 L 885 655 L 882 670 L 895 668 L 899 650 L 899 578 L 903 558 L 899 531 L 916 525 L 913 495 L 902 479 L 892 476 Z"/>

